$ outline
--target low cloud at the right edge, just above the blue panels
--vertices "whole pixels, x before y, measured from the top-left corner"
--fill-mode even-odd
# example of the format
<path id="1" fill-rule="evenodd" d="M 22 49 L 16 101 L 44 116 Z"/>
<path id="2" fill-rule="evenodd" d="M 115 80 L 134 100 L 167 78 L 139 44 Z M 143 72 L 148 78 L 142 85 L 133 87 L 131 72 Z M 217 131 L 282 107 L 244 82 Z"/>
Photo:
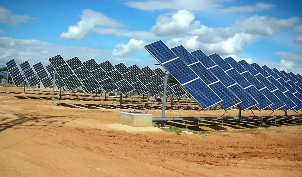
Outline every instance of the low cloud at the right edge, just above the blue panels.
<path id="1" fill-rule="evenodd" d="M 302 53 L 276 52 L 275 54 L 282 59 L 280 70 L 302 74 Z"/>

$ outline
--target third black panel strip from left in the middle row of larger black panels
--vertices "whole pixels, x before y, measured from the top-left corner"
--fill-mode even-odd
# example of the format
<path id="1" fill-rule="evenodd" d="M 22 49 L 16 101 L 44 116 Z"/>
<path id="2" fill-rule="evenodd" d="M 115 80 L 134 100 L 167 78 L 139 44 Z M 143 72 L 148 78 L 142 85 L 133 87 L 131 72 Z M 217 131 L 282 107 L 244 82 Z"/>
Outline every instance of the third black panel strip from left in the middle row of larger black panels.
<path id="1" fill-rule="evenodd" d="M 105 93 L 110 93 L 118 89 L 117 85 L 111 80 L 111 78 L 105 73 L 105 71 L 98 65 L 94 59 L 83 62 L 88 71 L 101 85 Z"/>

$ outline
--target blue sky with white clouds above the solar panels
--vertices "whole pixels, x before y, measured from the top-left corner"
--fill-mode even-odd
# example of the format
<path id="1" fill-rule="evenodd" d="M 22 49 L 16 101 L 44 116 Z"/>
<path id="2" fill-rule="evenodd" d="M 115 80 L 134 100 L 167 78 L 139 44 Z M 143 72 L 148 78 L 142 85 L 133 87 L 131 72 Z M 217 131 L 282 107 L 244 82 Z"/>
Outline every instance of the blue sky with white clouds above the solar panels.
<path id="1" fill-rule="evenodd" d="M 156 68 L 143 46 L 162 40 L 302 74 L 301 18 L 300 0 L 2 0 L 0 65 L 61 54 Z"/>

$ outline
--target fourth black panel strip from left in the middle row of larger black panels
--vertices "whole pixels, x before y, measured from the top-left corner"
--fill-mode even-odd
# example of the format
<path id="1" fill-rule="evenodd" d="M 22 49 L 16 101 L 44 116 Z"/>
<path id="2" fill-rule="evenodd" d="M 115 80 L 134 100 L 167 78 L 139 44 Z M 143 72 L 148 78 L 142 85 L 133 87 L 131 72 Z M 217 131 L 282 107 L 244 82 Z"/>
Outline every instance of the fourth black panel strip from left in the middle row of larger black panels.
<path id="1" fill-rule="evenodd" d="M 99 66 L 108 74 L 108 76 L 117 85 L 122 94 L 130 93 L 134 90 L 133 86 L 124 78 L 122 74 L 107 60 Z"/>

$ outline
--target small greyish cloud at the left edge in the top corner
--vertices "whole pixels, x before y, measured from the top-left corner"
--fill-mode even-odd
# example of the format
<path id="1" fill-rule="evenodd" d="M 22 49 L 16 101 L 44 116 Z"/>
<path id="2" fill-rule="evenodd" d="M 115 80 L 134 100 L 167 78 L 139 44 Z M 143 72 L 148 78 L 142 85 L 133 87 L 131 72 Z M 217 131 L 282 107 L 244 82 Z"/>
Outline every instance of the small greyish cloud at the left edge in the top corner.
<path id="1" fill-rule="evenodd" d="M 0 6 L 0 23 L 8 23 L 10 25 L 18 25 L 18 23 L 26 23 L 34 17 L 28 15 L 16 15 L 11 10 Z"/>

